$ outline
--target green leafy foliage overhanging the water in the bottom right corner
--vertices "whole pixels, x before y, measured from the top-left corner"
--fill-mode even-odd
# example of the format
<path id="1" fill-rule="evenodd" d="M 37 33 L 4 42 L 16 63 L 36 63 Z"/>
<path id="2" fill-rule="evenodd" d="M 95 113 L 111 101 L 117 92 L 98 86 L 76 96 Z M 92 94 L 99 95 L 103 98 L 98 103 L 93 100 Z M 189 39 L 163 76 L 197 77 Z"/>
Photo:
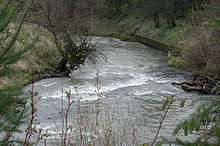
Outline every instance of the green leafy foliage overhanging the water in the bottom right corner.
<path id="1" fill-rule="evenodd" d="M 220 101 L 207 106 L 202 105 L 189 119 L 177 125 L 173 135 L 183 132 L 185 136 L 195 135 L 194 142 L 177 143 L 182 145 L 219 145 L 220 144 Z"/>

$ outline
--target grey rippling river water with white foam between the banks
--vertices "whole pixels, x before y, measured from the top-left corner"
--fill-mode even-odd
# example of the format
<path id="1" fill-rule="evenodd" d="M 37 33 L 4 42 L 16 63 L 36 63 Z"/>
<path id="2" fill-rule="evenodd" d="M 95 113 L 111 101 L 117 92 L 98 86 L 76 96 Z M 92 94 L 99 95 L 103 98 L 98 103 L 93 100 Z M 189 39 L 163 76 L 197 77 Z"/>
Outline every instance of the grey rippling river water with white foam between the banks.
<path id="1" fill-rule="evenodd" d="M 72 73 L 72 78 L 45 79 L 35 83 L 40 97 L 36 127 L 50 133 L 47 141 L 59 138 L 63 125 L 62 107 L 65 108 L 67 101 L 65 92 L 71 90 L 75 102 L 68 119 L 73 130 L 68 133 L 72 132 L 72 139 L 77 141 L 77 129 L 81 125 L 87 142 L 102 137 L 103 141 L 111 139 L 113 145 L 150 143 L 164 113 L 160 110 L 164 98 L 174 96 L 176 101 L 160 131 L 161 136 L 172 139 L 175 126 L 196 110 L 198 99 L 201 101 L 202 97 L 171 85 L 184 80 L 185 76 L 167 66 L 166 53 L 118 39 L 96 40 L 100 40 L 98 47 L 107 61 L 86 63 Z M 184 107 L 180 107 L 182 100 L 186 101 Z M 107 138 L 103 138 L 105 136 Z"/>

